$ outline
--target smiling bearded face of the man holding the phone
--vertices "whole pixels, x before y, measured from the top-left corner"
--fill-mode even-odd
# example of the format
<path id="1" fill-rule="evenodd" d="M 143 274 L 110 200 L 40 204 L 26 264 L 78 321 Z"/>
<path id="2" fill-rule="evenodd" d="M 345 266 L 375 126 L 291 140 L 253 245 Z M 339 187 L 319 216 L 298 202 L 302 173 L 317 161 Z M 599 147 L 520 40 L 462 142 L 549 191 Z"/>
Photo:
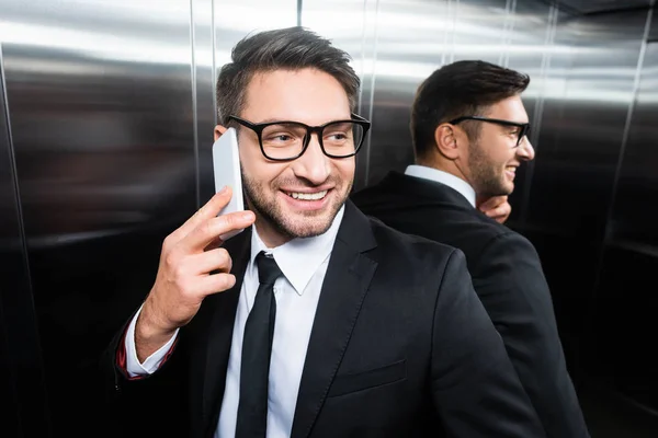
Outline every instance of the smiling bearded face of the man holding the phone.
<path id="1" fill-rule="evenodd" d="M 348 95 L 332 76 L 303 69 L 254 74 L 239 117 L 254 124 L 288 120 L 319 126 L 350 119 L 351 114 Z M 276 132 L 276 139 L 285 135 Z M 281 244 L 327 231 L 352 188 L 354 157 L 327 157 L 315 134 L 304 154 L 286 162 L 268 160 L 257 134 L 247 127 L 240 127 L 238 142 L 243 189 L 257 214 L 259 233 L 269 233 L 271 242 Z"/>

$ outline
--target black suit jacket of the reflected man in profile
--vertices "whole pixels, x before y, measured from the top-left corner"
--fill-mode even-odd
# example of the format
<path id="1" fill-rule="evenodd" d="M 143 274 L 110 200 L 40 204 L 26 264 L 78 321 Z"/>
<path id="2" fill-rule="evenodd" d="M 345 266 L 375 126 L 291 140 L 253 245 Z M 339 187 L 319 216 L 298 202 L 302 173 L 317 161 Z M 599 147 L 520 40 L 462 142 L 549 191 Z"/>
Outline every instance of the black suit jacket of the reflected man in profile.
<path id="1" fill-rule="evenodd" d="M 548 286 L 534 246 L 453 188 L 390 172 L 353 194 L 366 215 L 464 252 L 473 286 L 552 438 L 588 437 L 566 369 Z"/>

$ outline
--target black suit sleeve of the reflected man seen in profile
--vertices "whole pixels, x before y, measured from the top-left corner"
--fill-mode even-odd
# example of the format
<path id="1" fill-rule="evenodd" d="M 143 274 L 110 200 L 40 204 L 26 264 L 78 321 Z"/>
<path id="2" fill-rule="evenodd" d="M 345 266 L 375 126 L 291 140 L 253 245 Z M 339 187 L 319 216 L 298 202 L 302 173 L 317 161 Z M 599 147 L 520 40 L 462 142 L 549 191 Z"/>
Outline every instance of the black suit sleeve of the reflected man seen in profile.
<path id="1" fill-rule="evenodd" d="M 547 436 L 588 437 L 534 246 L 517 233 L 499 235 L 486 246 L 472 272 L 475 289 Z"/>

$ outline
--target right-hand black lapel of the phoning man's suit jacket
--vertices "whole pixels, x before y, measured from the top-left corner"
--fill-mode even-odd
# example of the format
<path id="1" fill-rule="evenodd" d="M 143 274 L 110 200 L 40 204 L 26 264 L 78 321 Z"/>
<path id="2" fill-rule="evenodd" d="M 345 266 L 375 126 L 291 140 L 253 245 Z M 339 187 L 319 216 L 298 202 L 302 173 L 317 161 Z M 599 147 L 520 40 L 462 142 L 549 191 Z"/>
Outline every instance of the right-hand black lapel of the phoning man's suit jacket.
<path id="1" fill-rule="evenodd" d="M 316 311 L 291 438 L 310 434 L 347 349 L 377 263 L 370 221 L 351 201 L 336 238 Z"/>

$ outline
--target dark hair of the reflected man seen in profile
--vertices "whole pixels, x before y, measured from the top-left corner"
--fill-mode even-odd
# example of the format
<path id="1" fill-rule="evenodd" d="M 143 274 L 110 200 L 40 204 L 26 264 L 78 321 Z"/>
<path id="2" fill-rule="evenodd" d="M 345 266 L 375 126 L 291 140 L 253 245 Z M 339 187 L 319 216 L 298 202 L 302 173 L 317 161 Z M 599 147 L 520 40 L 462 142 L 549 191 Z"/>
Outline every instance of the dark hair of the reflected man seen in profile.
<path id="1" fill-rule="evenodd" d="M 461 116 L 481 115 L 488 106 L 522 93 L 527 74 L 480 60 L 456 61 L 435 70 L 416 93 L 411 110 L 411 137 L 417 158 L 434 148 L 434 131 Z M 464 122 L 468 138 L 476 139 L 479 124 Z"/>

